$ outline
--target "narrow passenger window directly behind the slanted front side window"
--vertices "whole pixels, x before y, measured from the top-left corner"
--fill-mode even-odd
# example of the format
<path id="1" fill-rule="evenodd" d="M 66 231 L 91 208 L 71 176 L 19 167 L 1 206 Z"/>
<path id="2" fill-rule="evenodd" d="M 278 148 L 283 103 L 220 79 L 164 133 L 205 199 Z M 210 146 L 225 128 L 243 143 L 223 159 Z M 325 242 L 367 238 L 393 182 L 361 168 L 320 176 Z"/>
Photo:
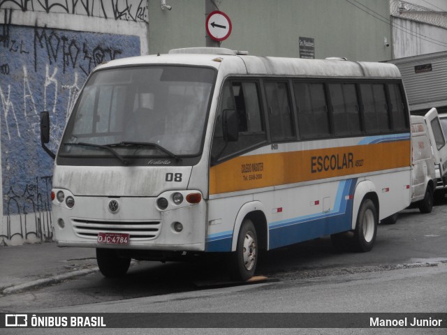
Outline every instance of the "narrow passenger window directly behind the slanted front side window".
<path id="1" fill-rule="evenodd" d="M 272 140 L 295 137 L 287 84 L 266 82 L 264 86 Z"/>

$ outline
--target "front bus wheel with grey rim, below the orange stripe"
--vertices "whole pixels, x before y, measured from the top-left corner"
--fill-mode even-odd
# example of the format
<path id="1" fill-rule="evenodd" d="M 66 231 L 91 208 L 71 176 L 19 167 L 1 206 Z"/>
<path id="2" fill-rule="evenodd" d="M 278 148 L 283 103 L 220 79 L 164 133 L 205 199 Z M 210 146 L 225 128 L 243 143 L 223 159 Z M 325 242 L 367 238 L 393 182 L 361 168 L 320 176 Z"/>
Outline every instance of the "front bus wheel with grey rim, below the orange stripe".
<path id="1" fill-rule="evenodd" d="M 237 281 L 247 281 L 251 278 L 256 271 L 258 254 L 256 228 L 251 220 L 244 220 L 237 237 L 236 252 L 230 259 L 232 278 Z"/>

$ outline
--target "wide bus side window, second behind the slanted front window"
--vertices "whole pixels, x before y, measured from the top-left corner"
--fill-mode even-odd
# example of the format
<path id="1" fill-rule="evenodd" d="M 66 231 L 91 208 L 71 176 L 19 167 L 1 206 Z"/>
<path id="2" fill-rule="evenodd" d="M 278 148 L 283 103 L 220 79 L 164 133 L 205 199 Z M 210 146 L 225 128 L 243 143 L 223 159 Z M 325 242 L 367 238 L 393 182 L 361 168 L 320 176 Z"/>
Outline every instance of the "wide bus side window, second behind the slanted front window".
<path id="1" fill-rule="evenodd" d="M 293 88 L 298 109 L 300 137 L 316 138 L 331 135 L 324 84 L 295 82 Z"/>

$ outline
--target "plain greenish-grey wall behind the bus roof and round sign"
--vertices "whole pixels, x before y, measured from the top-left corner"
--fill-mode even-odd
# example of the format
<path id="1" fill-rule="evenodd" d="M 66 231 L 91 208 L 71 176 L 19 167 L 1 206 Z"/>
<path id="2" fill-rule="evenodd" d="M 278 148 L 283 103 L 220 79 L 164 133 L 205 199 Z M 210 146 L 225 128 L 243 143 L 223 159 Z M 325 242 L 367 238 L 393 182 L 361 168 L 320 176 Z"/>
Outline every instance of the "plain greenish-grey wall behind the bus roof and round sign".
<path id="1" fill-rule="evenodd" d="M 352 60 L 390 59 L 389 0 L 221 0 L 233 23 L 221 47 L 262 56 L 299 57 L 298 38 L 314 38 L 315 57 Z M 149 0 L 149 50 L 205 46 L 205 0 Z M 356 6 L 354 6 L 356 5 Z"/>

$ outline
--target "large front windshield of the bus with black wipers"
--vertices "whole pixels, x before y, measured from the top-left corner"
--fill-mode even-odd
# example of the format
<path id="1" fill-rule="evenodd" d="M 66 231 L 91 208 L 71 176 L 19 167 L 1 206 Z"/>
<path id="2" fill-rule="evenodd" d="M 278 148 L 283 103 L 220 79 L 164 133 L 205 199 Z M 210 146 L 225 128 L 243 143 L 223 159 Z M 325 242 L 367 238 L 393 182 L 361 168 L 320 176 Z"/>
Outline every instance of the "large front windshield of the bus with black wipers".
<path id="1" fill-rule="evenodd" d="M 192 66 L 98 70 L 73 109 L 60 156 L 200 154 L 215 72 Z"/>

